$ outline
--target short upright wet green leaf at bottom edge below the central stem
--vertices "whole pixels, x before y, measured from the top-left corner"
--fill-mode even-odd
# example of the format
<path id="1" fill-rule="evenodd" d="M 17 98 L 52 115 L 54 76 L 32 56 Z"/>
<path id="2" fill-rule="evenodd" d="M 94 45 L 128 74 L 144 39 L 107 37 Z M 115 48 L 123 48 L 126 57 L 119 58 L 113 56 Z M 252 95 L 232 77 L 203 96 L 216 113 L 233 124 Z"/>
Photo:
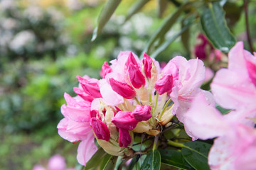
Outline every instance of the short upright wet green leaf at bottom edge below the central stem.
<path id="1" fill-rule="evenodd" d="M 146 159 L 142 164 L 144 170 L 157 170 L 161 166 L 161 154 L 158 150 L 151 151 L 146 155 Z"/>

